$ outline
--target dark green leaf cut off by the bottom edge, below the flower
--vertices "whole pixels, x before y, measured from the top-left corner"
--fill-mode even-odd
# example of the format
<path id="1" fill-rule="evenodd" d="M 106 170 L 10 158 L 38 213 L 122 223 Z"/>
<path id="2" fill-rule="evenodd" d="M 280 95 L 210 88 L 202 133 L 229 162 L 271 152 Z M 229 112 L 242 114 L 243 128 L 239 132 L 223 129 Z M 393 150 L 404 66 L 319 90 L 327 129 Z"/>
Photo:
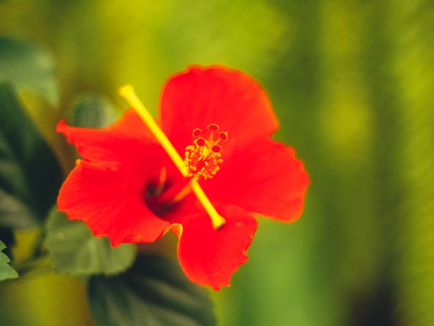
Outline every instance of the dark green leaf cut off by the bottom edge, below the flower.
<path id="1" fill-rule="evenodd" d="M 98 325 L 216 325 L 205 289 L 159 255 L 139 255 L 123 275 L 92 277 L 89 300 Z"/>

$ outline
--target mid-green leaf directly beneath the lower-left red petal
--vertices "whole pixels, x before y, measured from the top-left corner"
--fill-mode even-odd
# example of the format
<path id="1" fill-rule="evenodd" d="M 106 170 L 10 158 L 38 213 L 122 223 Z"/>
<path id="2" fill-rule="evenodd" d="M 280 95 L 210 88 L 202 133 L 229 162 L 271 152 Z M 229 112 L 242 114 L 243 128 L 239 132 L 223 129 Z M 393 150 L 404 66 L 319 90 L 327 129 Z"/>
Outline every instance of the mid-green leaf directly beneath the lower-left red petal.
<path id="1" fill-rule="evenodd" d="M 113 248 L 108 238 L 97 238 L 82 221 L 71 221 L 53 209 L 47 223 L 47 246 L 55 271 L 75 275 L 113 275 L 134 262 L 136 247 L 123 243 Z"/>

